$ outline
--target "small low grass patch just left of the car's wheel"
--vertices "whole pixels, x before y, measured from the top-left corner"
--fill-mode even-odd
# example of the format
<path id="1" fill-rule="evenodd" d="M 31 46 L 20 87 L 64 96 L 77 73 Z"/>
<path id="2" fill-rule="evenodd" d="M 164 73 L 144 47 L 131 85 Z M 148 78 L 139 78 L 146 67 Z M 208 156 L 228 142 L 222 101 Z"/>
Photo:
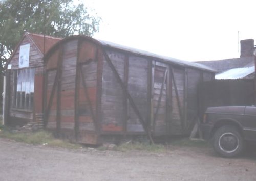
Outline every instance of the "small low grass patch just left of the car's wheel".
<path id="1" fill-rule="evenodd" d="M 176 139 L 170 142 L 173 146 L 186 146 L 186 147 L 209 147 L 209 143 L 204 140 L 190 140 L 189 138 Z"/>

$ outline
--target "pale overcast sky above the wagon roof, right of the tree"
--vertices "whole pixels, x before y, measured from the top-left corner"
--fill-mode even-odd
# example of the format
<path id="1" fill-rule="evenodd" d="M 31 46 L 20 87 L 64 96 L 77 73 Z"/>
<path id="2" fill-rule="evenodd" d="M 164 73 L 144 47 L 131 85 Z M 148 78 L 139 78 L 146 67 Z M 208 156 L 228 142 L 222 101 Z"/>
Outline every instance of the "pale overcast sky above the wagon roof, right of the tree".
<path id="1" fill-rule="evenodd" d="M 182 60 L 239 57 L 238 38 L 256 40 L 256 1 L 252 0 L 83 3 L 102 18 L 94 38 Z"/>

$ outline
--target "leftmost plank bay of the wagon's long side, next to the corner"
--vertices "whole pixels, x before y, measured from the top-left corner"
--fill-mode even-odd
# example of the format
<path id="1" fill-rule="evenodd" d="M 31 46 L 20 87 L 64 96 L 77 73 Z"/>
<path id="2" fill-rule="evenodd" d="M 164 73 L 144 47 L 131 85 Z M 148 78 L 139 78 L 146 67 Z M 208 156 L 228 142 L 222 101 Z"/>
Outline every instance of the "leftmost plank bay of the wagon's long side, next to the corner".
<path id="1" fill-rule="evenodd" d="M 124 79 L 124 60 L 125 55 L 108 51 L 108 56 L 112 60 L 122 81 Z M 102 97 L 101 115 L 103 132 L 122 132 L 123 131 L 123 91 L 114 73 L 104 59 L 102 72 Z"/>

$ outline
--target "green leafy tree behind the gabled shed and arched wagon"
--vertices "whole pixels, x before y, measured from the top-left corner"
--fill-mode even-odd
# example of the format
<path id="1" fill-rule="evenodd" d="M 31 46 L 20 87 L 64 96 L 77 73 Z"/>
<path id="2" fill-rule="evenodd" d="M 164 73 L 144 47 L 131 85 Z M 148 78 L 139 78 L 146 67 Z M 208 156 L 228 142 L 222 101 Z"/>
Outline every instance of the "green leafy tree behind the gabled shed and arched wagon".
<path id="1" fill-rule="evenodd" d="M 56 37 L 74 34 L 92 36 L 100 18 L 70 0 L 0 0 L 0 59 L 11 55 L 25 31 Z"/>

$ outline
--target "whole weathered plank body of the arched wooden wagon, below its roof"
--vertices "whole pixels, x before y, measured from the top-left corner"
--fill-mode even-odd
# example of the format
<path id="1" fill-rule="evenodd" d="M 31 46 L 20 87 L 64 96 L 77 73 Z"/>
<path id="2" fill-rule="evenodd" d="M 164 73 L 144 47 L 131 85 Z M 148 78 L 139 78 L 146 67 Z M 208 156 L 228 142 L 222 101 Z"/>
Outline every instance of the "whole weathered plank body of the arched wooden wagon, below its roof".
<path id="1" fill-rule="evenodd" d="M 84 36 L 64 39 L 46 59 L 47 127 L 59 121 L 62 135 L 90 144 L 104 135 L 189 133 L 199 112 L 197 86 L 214 77 Z"/>

